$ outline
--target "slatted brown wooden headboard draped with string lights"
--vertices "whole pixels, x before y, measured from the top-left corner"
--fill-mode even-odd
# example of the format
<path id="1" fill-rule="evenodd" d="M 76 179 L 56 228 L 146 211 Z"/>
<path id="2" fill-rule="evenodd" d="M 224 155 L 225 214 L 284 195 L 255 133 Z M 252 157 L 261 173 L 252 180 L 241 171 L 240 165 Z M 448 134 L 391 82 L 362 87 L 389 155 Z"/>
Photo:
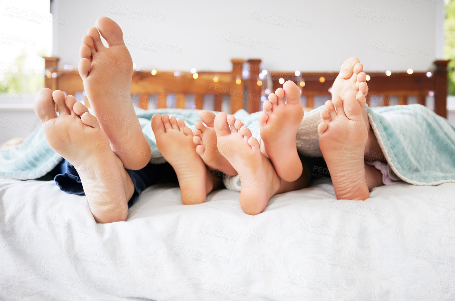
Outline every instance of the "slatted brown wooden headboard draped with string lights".
<path id="1" fill-rule="evenodd" d="M 45 57 L 45 87 L 65 91 L 68 95 L 83 92 L 84 86 L 77 70 L 58 69 L 57 57 Z M 193 94 L 196 109 L 202 109 L 204 95 L 214 97 L 214 110 L 221 111 L 223 97 L 229 97 L 231 113 L 239 109 L 248 112 L 261 110 L 266 90 L 275 91 L 284 81 L 291 80 L 302 88 L 306 97 L 306 107 L 312 108 L 315 96 L 330 99 L 329 88 L 338 75 L 337 72 L 278 72 L 268 71 L 259 75 L 260 59 L 232 59 L 232 71 L 134 71 L 131 82 L 131 95 L 138 96 L 138 105 L 147 109 L 150 95 L 157 95 L 157 107 L 165 108 L 168 94 L 176 94 L 177 108 L 185 108 L 185 97 Z M 369 76 L 369 97 L 375 97 L 376 105 L 407 104 L 408 97 L 417 97 L 417 103 L 425 105 L 425 97 L 434 93 L 435 112 L 447 116 L 447 64 L 449 61 L 435 61 L 433 68 L 425 72 L 366 72 Z M 298 73 L 298 72 L 297 72 Z M 268 91 L 267 91 L 268 92 Z M 262 100 L 261 100 L 262 97 Z M 398 97 L 391 102 L 390 97 Z M 378 101 L 379 99 L 379 101 Z M 88 100 L 86 104 L 90 106 Z"/>

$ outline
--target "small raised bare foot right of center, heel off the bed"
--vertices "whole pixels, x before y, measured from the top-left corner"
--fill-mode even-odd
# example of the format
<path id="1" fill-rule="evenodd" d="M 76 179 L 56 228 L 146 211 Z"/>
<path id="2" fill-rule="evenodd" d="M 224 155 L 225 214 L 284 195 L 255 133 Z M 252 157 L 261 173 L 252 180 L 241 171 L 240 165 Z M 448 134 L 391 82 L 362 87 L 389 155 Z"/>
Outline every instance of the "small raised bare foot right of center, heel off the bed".
<path id="1" fill-rule="evenodd" d="M 286 103 L 284 98 L 286 97 Z M 261 140 L 264 151 L 273 163 L 278 176 L 288 182 L 302 174 L 295 136 L 303 119 L 300 89 L 292 81 L 284 83 L 275 93 L 270 93 L 259 115 Z"/>

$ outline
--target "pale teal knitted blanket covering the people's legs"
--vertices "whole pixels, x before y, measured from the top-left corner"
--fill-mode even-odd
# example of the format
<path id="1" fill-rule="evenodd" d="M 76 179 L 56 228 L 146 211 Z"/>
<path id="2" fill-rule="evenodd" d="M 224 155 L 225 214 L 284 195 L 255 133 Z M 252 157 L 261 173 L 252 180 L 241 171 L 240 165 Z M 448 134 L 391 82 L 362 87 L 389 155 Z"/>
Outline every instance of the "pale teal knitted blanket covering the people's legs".
<path id="1" fill-rule="evenodd" d="M 322 107 L 314 109 L 318 113 Z M 438 185 L 455 182 L 455 128 L 445 118 L 420 105 L 369 108 L 370 123 L 378 138 L 387 162 L 405 182 L 415 185 Z M 152 150 L 151 163 L 164 163 L 150 126 L 153 114 L 169 114 L 182 118 L 190 126 L 199 120 L 199 110 L 156 109 L 138 110 L 142 131 Z M 234 114 L 253 136 L 258 134 L 257 120 L 260 112 L 248 114 L 240 110 Z M 303 118 L 305 121 L 305 117 Z M 317 127 L 319 122 L 313 122 Z M 299 135 L 305 133 L 300 133 Z M 23 143 L 0 148 L 0 177 L 12 179 L 37 179 L 50 172 L 60 161 L 46 143 L 40 129 L 28 136 Z"/>

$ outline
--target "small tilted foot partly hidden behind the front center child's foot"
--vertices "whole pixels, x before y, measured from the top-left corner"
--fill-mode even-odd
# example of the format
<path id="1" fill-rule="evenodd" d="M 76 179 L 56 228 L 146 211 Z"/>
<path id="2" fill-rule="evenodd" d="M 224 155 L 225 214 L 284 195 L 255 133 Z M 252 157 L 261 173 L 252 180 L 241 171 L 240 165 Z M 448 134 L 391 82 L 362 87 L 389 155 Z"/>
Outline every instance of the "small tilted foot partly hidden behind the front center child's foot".
<path id="1" fill-rule="evenodd" d="M 215 113 L 210 111 L 202 111 L 199 113 L 199 118 L 202 122 L 196 122 L 196 128 L 193 130 L 193 142 L 196 144 L 196 153 L 201 156 L 204 163 L 209 169 L 219 170 L 228 175 L 236 175 L 237 171 L 232 167 L 231 163 L 218 151 L 217 148 L 217 133 L 213 128 Z"/>

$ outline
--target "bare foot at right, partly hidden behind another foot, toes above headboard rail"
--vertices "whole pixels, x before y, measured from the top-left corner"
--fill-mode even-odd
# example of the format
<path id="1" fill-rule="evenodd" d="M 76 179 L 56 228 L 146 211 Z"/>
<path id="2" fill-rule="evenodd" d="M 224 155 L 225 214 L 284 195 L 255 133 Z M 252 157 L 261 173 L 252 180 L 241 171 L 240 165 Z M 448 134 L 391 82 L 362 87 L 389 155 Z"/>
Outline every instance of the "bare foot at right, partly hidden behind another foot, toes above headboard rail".
<path id="1" fill-rule="evenodd" d="M 355 98 L 361 107 L 364 107 L 368 85 L 366 74 L 362 72 L 364 66 L 357 57 L 350 57 L 344 61 L 340 73 L 332 86 L 332 97 L 338 95 L 341 99 Z"/>

